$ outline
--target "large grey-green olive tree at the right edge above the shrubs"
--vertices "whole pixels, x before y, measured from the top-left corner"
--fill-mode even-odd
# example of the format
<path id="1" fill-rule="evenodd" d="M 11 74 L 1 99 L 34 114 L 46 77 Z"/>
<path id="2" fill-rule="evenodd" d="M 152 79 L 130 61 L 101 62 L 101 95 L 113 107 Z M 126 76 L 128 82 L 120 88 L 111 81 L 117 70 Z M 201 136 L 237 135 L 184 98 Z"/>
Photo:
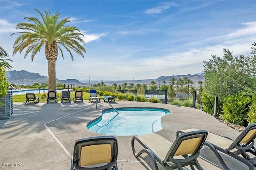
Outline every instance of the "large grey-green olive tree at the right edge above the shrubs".
<path id="1" fill-rule="evenodd" d="M 251 88 L 256 70 L 254 56 L 232 56 L 228 49 L 223 50 L 223 58 L 212 55 L 212 59 L 204 62 L 204 92 L 218 96 L 220 100 Z"/>

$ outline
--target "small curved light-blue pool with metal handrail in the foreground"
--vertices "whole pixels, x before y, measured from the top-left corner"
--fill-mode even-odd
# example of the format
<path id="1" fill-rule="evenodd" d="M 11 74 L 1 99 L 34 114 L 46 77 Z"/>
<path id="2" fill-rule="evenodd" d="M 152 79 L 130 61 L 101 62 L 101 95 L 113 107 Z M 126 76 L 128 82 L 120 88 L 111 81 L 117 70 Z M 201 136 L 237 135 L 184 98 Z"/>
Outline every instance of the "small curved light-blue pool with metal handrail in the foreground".
<path id="1" fill-rule="evenodd" d="M 167 109 L 151 107 L 127 107 L 102 111 L 102 116 L 87 124 L 90 131 L 116 136 L 144 135 L 160 131 L 161 117 L 170 113 Z"/>

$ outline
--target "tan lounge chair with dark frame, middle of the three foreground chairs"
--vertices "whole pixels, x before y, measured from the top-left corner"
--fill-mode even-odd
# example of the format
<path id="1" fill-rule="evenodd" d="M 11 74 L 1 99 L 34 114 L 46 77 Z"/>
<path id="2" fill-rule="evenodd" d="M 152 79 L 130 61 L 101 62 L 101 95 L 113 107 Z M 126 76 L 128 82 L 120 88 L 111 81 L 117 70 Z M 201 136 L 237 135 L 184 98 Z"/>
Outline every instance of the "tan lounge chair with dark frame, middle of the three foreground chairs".
<path id="1" fill-rule="evenodd" d="M 198 163 L 197 158 L 206 136 L 207 131 L 183 133 L 176 138 L 174 143 L 172 143 L 156 133 L 138 135 L 132 137 L 132 151 L 136 158 L 143 153 L 148 154 L 152 160 L 154 170 L 158 170 L 156 160 L 165 169 L 172 170 L 178 168 L 179 170 L 182 170 L 182 167 L 189 165 L 193 170 L 194 166 L 201 170 L 202 167 Z M 134 148 L 135 140 L 145 149 L 136 153 Z"/>

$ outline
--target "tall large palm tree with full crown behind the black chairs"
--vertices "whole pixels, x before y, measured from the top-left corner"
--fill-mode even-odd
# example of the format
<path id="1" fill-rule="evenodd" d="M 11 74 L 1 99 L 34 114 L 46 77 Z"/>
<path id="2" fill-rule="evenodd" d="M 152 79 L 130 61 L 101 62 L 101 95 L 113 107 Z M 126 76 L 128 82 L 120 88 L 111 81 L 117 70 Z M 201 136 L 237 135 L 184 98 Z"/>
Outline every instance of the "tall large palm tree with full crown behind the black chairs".
<path id="1" fill-rule="evenodd" d="M 36 9 L 35 9 L 36 10 Z M 58 57 L 58 49 L 64 59 L 63 51 L 60 48 L 62 45 L 70 54 L 72 61 L 74 60 L 73 54 L 70 49 L 74 50 L 76 54 L 81 55 L 84 58 L 86 53 L 84 47 L 79 43 L 85 44 L 84 40 L 80 37 L 84 35 L 80 33 L 77 27 L 66 26 L 65 24 L 70 22 L 70 18 L 64 18 L 57 22 L 60 14 L 58 12 L 55 15 L 51 15 L 50 11 L 42 14 L 39 10 L 36 10 L 41 18 L 41 22 L 35 17 L 25 17 L 28 21 L 33 23 L 23 22 L 16 25 L 16 29 L 22 30 L 17 32 L 20 34 L 13 44 L 13 55 L 16 53 L 22 53 L 26 49 L 24 58 L 29 53 L 32 53 L 31 60 L 34 60 L 36 54 L 44 46 L 45 57 L 48 60 L 48 84 L 49 91 L 56 91 L 56 60 Z M 12 33 L 14 35 L 16 33 Z"/>

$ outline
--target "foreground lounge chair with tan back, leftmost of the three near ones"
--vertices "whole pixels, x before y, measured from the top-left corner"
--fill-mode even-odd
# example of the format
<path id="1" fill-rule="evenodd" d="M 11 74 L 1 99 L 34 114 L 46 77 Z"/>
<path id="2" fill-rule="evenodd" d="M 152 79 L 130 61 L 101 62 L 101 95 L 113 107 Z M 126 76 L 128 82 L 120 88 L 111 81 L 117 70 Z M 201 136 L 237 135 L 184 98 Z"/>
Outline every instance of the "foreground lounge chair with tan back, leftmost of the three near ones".
<path id="1" fill-rule="evenodd" d="M 117 139 L 113 136 L 78 139 L 70 170 L 117 170 Z"/>

